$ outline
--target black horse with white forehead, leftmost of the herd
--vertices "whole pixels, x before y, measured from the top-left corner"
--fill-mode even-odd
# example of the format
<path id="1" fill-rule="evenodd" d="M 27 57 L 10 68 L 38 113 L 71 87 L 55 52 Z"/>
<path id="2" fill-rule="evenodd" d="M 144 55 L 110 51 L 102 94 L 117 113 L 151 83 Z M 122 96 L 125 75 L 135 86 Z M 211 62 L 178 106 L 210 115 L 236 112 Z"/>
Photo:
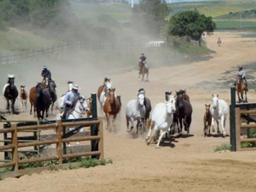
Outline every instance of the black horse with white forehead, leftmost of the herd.
<path id="1" fill-rule="evenodd" d="M 6 111 L 7 113 L 14 113 L 14 103 L 17 99 L 19 93 L 17 87 L 14 85 L 14 75 L 8 75 L 7 84 L 3 87 L 3 96 L 7 101 Z M 10 110 L 10 101 L 11 101 L 11 110 Z"/>

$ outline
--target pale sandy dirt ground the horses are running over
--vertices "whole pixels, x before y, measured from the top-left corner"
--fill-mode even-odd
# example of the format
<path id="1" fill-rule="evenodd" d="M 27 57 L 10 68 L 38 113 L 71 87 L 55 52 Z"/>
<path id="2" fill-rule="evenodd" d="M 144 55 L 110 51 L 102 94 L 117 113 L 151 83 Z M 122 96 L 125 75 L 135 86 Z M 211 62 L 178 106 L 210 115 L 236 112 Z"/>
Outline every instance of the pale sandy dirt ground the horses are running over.
<path id="1" fill-rule="evenodd" d="M 216 43 L 218 37 L 222 40 L 221 47 Z M 104 133 L 105 159 L 112 159 L 113 165 L 43 171 L 19 179 L 8 178 L 0 182 L 0 191 L 254 192 L 256 153 L 254 151 L 215 153 L 215 147 L 229 143 L 230 137 L 205 138 L 202 136 L 202 131 L 205 103 L 211 103 L 211 94 L 219 94 L 219 98 L 225 99 L 230 104 L 230 86 L 227 85 L 223 89 L 214 86 L 215 82 L 227 75 L 235 78 L 235 73 L 223 74 L 223 72 L 230 69 L 234 69 L 235 72 L 238 65 L 244 65 L 247 70 L 246 63 L 254 62 L 256 59 L 255 40 L 241 38 L 239 34 L 214 33 L 206 39 L 207 46 L 215 51 L 211 54 L 212 58 L 189 65 L 150 69 L 148 83 L 138 82 L 137 71 L 111 75 L 113 86 L 122 99 L 121 115 L 117 118 L 117 133 L 110 134 L 106 130 Z M 61 77 L 58 75 L 58 73 L 53 74 L 55 80 L 58 80 L 57 90 L 60 94 L 66 89 L 66 82 L 61 83 L 59 81 Z M 97 91 L 97 87 L 105 77 L 105 75 L 95 76 L 86 77 L 86 80 L 85 77 L 75 79 L 85 95 Z M 208 81 L 209 85 L 201 86 L 202 82 Z M 153 106 L 158 102 L 164 102 L 165 91 L 186 89 L 193 105 L 190 128 L 193 136 L 175 138 L 171 143 L 165 141 L 161 149 L 155 149 L 155 144 L 146 145 L 145 134 L 137 136 L 135 130 L 127 134 L 125 105 L 130 99 L 136 98 L 137 90 L 141 87 L 145 88 L 146 96 L 151 99 Z M 249 102 L 256 101 L 255 91 L 252 88 L 250 87 L 248 93 Z M 1 110 L 2 107 L 3 105 Z M 28 110 L 7 118 L 33 119 Z M 105 121 L 104 124 L 106 125 Z M 229 134 L 229 116 L 226 131 Z"/>

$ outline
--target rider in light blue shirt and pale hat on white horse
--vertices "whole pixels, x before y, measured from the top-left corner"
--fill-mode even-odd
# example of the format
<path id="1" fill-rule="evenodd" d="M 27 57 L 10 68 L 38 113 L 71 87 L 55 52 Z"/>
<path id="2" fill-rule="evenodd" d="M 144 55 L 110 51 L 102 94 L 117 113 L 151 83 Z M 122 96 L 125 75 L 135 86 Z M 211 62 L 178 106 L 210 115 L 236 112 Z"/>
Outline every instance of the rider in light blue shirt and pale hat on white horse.
<path id="1" fill-rule="evenodd" d="M 78 90 L 79 90 L 79 86 L 73 85 L 72 90 L 66 93 L 65 100 L 64 100 L 65 110 L 62 115 L 62 119 L 66 119 L 67 111 L 69 111 L 71 107 L 73 107 L 74 105 L 73 101 L 80 97 L 80 93 L 78 92 Z"/>

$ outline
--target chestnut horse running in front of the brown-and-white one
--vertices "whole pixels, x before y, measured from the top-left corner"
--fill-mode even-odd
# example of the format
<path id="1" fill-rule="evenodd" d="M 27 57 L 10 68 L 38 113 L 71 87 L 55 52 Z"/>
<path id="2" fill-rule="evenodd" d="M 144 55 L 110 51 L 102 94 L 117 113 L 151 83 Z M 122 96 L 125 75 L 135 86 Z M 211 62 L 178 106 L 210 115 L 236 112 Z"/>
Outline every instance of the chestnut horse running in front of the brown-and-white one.
<path id="1" fill-rule="evenodd" d="M 120 103 L 117 97 L 115 97 L 115 88 L 109 89 L 109 96 L 106 98 L 106 102 L 103 105 L 103 111 L 107 117 L 107 130 L 114 133 L 115 131 L 115 119 L 120 111 Z M 110 115 L 113 115 L 113 128 L 110 130 Z"/>

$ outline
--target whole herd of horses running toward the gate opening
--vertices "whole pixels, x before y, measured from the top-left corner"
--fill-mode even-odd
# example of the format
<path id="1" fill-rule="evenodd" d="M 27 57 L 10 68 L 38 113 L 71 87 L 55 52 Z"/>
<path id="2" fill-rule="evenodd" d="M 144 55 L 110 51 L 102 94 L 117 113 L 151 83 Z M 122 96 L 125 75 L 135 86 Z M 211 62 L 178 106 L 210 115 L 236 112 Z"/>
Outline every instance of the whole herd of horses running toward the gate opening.
<path id="1" fill-rule="evenodd" d="M 143 67 L 142 67 L 143 68 Z M 141 73 L 141 71 L 140 71 Z M 142 74 L 146 74 L 144 71 Z M 142 77 L 143 79 L 143 77 Z M 74 82 L 68 82 L 69 90 Z M 24 107 L 26 109 L 27 99 L 29 98 L 31 107 L 30 114 L 34 115 L 37 112 L 38 119 L 44 119 L 44 113 L 48 117 L 48 111 L 51 109 L 53 113 L 54 103 L 57 101 L 55 82 L 51 79 L 44 79 L 43 82 L 37 83 L 31 87 L 29 94 L 25 90 L 25 85 L 21 86 L 20 98 L 22 111 Z M 237 80 L 236 90 L 239 98 L 239 102 L 243 101 L 243 93 L 245 93 L 246 101 L 246 86 L 242 79 Z M 65 106 L 64 98 L 65 94 L 62 94 L 57 101 L 57 109 L 59 114 L 63 113 Z M 18 97 L 17 87 L 14 85 L 14 75 L 8 75 L 7 84 L 3 87 L 3 95 L 7 101 L 6 110 L 8 113 L 14 113 L 15 99 Z M 241 95 L 241 96 L 240 96 Z M 115 93 L 115 88 L 112 87 L 112 83 L 109 78 L 105 78 L 103 85 L 98 87 L 97 98 L 100 103 L 102 115 L 106 117 L 107 130 L 115 132 L 115 120 L 118 113 L 121 111 L 121 96 Z M 157 147 L 161 142 L 164 135 L 170 138 L 173 134 L 175 127 L 178 127 L 178 133 L 182 134 L 182 128 L 186 131 L 186 134 L 190 134 L 190 125 L 192 121 L 193 107 L 190 103 L 189 95 L 186 90 L 175 91 L 175 94 L 171 95 L 171 92 L 165 93 L 165 101 L 151 107 L 151 102 L 146 97 L 145 89 L 139 89 L 136 99 L 131 99 L 127 102 L 125 113 L 126 113 L 126 124 L 127 131 L 131 132 L 134 128 L 134 121 L 137 121 L 137 131 L 144 133 L 146 128 L 149 132 L 146 137 L 146 142 L 151 143 L 152 139 L 156 141 L 158 139 Z M 223 99 L 219 99 L 218 95 L 213 95 L 213 103 L 206 105 L 205 115 L 203 117 L 204 134 L 205 136 L 210 135 L 210 127 L 214 126 L 214 121 L 217 122 L 217 129 L 219 131 L 219 121 L 222 126 L 222 134 L 226 135 L 225 125 L 226 117 L 229 112 L 229 107 Z M 11 102 L 11 104 L 10 104 Z M 51 106 L 51 108 L 50 108 Z M 91 98 L 79 97 L 75 99 L 73 110 L 67 115 L 67 119 L 82 118 L 83 115 L 87 114 L 87 117 L 91 115 Z M 153 110 L 152 110 L 153 109 Z M 152 110 L 152 111 L 151 111 Z M 151 115 L 150 115 L 151 113 Z M 112 125 L 110 123 L 110 117 L 113 116 Z M 212 129 L 214 131 L 214 129 Z"/>

